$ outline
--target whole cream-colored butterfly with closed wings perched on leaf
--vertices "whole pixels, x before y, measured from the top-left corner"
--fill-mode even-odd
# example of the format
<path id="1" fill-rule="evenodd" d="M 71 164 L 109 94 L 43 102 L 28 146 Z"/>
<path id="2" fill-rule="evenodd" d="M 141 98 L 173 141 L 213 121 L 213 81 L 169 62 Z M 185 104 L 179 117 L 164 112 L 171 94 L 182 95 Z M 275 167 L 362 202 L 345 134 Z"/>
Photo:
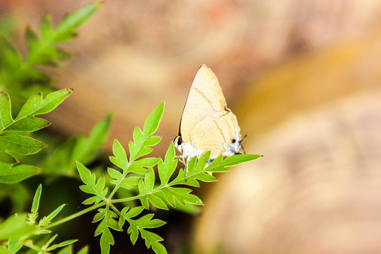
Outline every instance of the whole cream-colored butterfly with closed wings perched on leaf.
<path id="1" fill-rule="evenodd" d="M 219 155 L 241 154 L 241 134 L 236 116 L 226 107 L 216 75 L 202 65 L 193 79 L 181 116 L 175 147 L 184 164 L 210 151 L 210 160 Z M 188 171 L 188 170 L 187 170 Z"/>

